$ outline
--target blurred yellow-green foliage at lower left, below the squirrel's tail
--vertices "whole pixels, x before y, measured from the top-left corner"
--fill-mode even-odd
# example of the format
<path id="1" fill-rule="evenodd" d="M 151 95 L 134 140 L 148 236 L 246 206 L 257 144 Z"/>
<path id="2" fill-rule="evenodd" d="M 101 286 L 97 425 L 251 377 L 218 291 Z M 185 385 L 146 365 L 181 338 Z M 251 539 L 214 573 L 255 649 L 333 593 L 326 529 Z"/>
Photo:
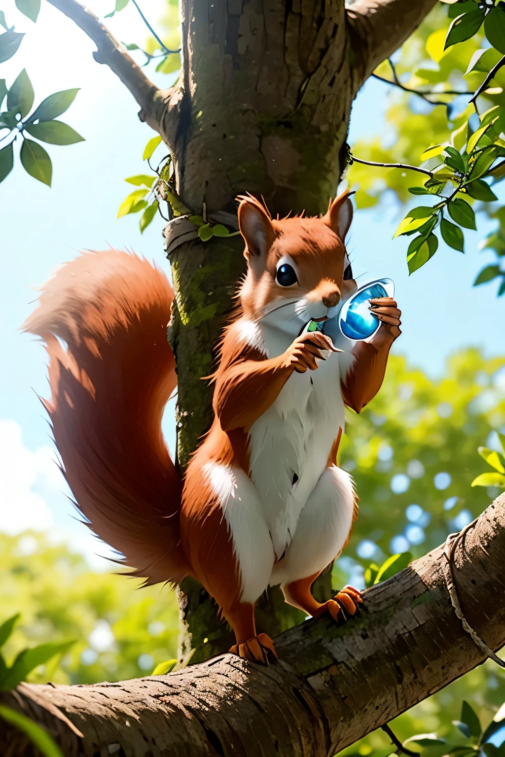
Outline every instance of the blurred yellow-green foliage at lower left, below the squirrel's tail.
<path id="1" fill-rule="evenodd" d="M 8 663 L 27 646 L 76 639 L 30 681 L 136 678 L 176 656 L 179 612 L 167 588 L 137 590 L 133 579 L 93 573 L 82 556 L 31 533 L 0 534 L 0 575 L 0 623 L 21 614 L 2 649 Z"/>

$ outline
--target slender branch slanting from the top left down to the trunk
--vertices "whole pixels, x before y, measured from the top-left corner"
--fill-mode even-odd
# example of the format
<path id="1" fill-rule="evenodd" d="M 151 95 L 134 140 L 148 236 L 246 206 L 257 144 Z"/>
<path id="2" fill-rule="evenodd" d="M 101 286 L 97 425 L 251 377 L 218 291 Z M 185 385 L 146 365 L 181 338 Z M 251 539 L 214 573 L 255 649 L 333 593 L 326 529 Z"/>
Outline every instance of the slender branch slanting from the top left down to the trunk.
<path id="1" fill-rule="evenodd" d="M 119 76 L 141 107 L 140 120 L 161 133 L 160 124 L 167 107 L 167 92 L 158 89 L 145 76 L 142 68 L 128 55 L 124 45 L 115 39 L 107 26 L 104 26 L 89 8 L 85 8 L 76 0 L 48 0 L 48 3 L 73 20 L 95 42 L 95 61 L 108 65 Z"/>

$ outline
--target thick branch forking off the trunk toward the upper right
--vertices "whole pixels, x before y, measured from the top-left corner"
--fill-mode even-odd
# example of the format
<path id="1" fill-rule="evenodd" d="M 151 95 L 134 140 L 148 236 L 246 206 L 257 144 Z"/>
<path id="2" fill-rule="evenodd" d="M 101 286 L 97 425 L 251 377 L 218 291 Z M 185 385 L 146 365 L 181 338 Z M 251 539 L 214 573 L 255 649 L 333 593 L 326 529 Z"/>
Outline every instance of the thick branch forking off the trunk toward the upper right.
<path id="1" fill-rule="evenodd" d="M 348 24 L 360 65 L 361 83 L 404 44 L 436 0 L 356 0 Z"/>

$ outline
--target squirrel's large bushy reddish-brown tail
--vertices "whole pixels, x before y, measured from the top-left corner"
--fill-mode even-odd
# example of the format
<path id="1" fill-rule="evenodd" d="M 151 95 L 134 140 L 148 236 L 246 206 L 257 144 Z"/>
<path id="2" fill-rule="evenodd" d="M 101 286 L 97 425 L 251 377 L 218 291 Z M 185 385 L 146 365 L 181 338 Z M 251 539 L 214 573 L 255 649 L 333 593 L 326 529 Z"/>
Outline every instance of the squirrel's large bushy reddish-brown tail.
<path id="1" fill-rule="evenodd" d="M 182 481 L 161 433 L 176 387 L 173 291 L 147 260 L 108 250 L 66 263 L 23 330 L 45 341 L 56 446 L 89 528 L 146 584 L 181 581 Z"/>

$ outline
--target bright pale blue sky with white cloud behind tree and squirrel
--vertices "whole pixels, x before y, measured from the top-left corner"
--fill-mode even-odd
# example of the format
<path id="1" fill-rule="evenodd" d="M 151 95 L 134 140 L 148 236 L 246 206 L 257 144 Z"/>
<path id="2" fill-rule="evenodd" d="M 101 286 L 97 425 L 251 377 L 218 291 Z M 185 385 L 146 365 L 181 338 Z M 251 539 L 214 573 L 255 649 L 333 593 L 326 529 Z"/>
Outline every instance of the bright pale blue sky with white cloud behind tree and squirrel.
<path id="1" fill-rule="evenodd" d="M 95 0 L 89 5 L 104 13 L 113 2 Z M 162 5 L 162 0 L 151 0 L 153 20 Z M 44 352 L 17 329 L 33 308 L 33 287 L 80 249 L 131 248 L 168 270 L 161 219 L 142 236 L 138 216 L 116 219 L 120 201 L 132 189 L 122 178 L 144 172 L 142 150 L 153 132 L 139 122 L 138 106 L 114 74 L 93 61 L 92 42 L 55 8 L 43 3 L 36 25 L 16 10 L 14 0 L 7 0 L 2 8 L 8 22 L 27 34 L 17 55 L 2 64 L 0 75 L 9 86 L 26 67 L 36 103 L 51 92 L 81 87 L 61 119 L 86 142 L 48 145 L 53 161 L 51 189 L 28 176 L 17 160 L 0 185 L 0 530 L 48 529 L 55 538 L 70 540 L 98 565 L 93 553 L 100 547 L 86 528 L 70 519 L 73 511 L 64 496 L 64 481 L 55 470 L 48 424 L 37 397 L 48 394 Z M 145 38 L 131 4 L 108 23 L 124 42 Z M 151 76 L 156 77 L 152 72 Z M 157 82 L 168 86 L 170 79 L 158 76 Z M 351 142 L 374 133 L 387 136 L 383 118 L 387 97 L 381 83 L 366 84 L 354 104 Z M 503 298 L 497 300 L 495 284 L 472 288 L 476 272 L 493 259 L 490 253 L 478 251 L 479 239 L 492 225 L 479 223 L 479 232 L 465 232 L 464 256 L 441 243 L 429 264 L 409 278 L 407 245 L 391 241 L 400 218 L 401 210 L 387 202 L 356 213 L 348 245 L 361 281 L 388 276 L 395 282 L 403 335 L 394 351 L 434 376 L 441 375 L 447 355 L 460 347 L 474 345 L 489 356 L 503 354 Z M 169 410 L 164 425 L 173 448 L 172 418 Z"/>

